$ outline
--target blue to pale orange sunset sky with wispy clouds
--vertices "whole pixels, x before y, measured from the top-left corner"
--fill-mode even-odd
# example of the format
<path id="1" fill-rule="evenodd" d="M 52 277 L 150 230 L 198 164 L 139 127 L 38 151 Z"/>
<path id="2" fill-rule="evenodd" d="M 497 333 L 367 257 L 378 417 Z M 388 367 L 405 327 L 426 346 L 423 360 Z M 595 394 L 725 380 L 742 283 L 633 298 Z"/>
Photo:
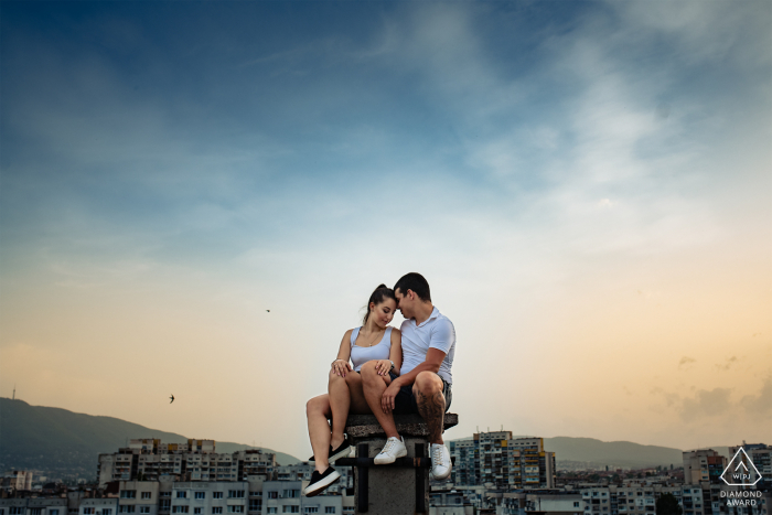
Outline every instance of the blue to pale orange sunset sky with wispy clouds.
<path id="1" fill-rule="evenodd" d="M 0 395 L 304 458 L 343 333 L 418 271 L 458 339 L 446 439 L 772 443 L 770 26 L 3 1 Z"/>

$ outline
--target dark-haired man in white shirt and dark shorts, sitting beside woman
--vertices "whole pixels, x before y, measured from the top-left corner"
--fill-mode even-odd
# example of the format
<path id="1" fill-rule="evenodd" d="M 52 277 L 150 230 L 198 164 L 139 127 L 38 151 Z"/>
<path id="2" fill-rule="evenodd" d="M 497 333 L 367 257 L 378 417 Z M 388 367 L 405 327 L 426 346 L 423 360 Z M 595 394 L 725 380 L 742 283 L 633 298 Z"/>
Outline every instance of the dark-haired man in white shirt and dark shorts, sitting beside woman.
<path id="1" fill-rule="evenodd" d="M 442 441 L 444 412 L 452 400 L 450 373 L 455 353 L 455 329 L 431 303 L 429 283 L 420 273 L 408 273 L 394 286 L 397 308 L 405 316 L 403 366 L 399 376 L 386 386 L 374 362 L 362 366 L 362 383 L 369 408 L 386 432 L 386 446 L 375 457 L 376 464 L 394 463 L 407 455 L 397 432 L 394 414 L 420 414 L 429 427 L 431 475 L 450 475 L 450 452 Z"/>

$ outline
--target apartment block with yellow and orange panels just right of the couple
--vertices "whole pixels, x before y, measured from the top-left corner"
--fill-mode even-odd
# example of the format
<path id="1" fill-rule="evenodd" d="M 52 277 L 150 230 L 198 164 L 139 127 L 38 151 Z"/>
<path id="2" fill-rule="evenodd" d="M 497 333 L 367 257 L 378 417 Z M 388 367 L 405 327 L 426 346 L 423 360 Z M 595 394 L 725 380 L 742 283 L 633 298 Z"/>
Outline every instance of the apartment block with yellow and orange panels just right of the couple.
<path id="1" fill-rule="evenodd" d="M 480 432 L 472 440 L 450 442 L 450 453 L 455 460 L 451 481 L 457 485 L 555 486 L 555 453 L 544 450 L 542 438 L 513 438 L 512 431 Z"/>

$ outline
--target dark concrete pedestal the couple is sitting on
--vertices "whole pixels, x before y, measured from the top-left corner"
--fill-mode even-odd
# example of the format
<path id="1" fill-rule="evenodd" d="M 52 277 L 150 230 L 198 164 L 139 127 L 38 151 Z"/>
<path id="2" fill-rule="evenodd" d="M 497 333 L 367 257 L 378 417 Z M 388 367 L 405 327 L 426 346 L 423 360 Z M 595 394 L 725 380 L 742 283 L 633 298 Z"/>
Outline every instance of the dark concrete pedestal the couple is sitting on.
<path id="1" fill-rule="evenodd" d="M 372 415 L 350 415 L 346 433 L 356 449 L 354 496 L 356 513 L 411 515 L 429 513 L 429 429 L 419 415 L 395 416 L 397 431 L 405 439 L 407 458 L 392 465 L 371 465 L 362 458 L 375 458 L 386 444 L 386 434 Z M 444 428 L 459 423 L 446 414 Z M 423 458 L 423 460 L 421 460 Z M 339 460 L 339 463 L 345 460 Z"/>

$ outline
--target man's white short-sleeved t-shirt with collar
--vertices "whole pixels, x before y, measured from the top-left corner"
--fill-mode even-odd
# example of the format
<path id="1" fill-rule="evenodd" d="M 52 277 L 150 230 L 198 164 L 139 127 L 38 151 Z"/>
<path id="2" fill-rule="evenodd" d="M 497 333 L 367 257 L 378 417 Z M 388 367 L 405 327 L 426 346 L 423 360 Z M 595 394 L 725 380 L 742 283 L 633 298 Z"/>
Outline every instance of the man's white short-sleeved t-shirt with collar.
<path id="1" fill-rule="evenodd" d="M 455 354 L 453 322 L 435 308 L 420 325 L 416 325 L 412 319 L 406 320 L 399 331 L 403 333 L 403 367 L 399 374 L 405 375 L 423 363 L 429 347 L 439 348 L 446 353 L 446 356 L 437 374 L 452 385 L 453 376 L 450 367 L 453 366 L 453 354 Z"/>

